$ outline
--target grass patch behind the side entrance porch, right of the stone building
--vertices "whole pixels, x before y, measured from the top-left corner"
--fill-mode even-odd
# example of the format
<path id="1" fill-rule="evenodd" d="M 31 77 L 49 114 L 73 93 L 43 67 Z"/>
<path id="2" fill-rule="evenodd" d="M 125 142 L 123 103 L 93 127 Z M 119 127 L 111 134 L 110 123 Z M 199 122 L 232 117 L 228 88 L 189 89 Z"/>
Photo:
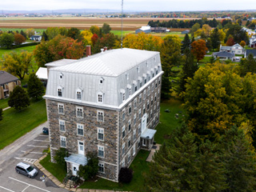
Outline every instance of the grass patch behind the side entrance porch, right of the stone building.
<path id="1" fill-rule="evenodd" d="M 181 125 L 185 111 L 182 109 L 182 102 L 174 98 L 161 102 L 160 106 L 160 122 L 156 127 L 157 133 L 154 135 L 154 141 L 162 144 L 164 139 L 169 138 L 172 131 Z M 165 112 L 167 109 L 170 113 Z M 178 114 L 178 118 L 175 118 L 175 114 Z"/>

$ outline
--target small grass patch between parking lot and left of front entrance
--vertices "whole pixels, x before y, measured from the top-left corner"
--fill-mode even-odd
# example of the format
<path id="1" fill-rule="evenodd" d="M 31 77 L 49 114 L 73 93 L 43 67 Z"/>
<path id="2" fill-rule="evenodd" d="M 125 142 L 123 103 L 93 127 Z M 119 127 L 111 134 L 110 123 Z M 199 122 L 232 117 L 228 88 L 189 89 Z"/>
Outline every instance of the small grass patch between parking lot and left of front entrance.
<path id="1" fill-rule="evenodd" d="M 55 178 L 58 178 L 58 181 L 62 182 L 66 176 L 66 170 L 62 166 L 59 166 L 57 163 L 50 162 L 50 154 L 46 158 L 42 159 L 40 164 L 51 174 L 54 174 Z"/>

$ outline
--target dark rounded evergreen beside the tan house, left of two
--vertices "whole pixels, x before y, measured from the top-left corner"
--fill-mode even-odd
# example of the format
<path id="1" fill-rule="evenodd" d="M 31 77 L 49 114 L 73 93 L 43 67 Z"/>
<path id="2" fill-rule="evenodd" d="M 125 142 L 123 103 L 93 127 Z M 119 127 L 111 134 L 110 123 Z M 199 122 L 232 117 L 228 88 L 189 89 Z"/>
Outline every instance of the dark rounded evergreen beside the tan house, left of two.
<path id="1" fill-rule="evenodd" d="M 14 107 L 15 110 L 21 110 L 23 107 L 30 106 L 30 98 L 21 86 L 15 86 L 14 90 L 10 92 L 8 105 Z"/>

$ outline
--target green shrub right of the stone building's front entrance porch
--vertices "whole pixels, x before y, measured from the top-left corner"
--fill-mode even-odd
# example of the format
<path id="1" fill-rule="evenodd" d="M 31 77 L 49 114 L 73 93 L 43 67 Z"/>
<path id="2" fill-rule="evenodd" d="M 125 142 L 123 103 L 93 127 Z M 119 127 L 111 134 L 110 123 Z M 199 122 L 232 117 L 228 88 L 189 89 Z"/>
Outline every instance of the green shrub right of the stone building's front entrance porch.
<path id="1" fill-rule="evenodd" d="M 94 178 L 98 173 L 98 154 L 97 151 L 89 151 L 86 154 L 87 165 L 79 166 L 79 177 L 84 178 L 85 180 L 89 178 Z"/>

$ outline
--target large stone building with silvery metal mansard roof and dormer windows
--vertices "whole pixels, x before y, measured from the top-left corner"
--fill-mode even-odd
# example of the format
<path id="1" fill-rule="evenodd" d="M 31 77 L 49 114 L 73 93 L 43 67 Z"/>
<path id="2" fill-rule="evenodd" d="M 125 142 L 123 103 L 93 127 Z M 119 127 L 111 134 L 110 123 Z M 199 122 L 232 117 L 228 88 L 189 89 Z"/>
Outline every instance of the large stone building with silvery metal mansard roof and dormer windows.
<path id="1" fill-rule="evenodd" d="M 50 154 L 65 147 L 77 174 L 96 150 L 98 175 L 118 181 L 138 150 L 150 149 L 158 125 L 162 66 L 158 52 L 106 50 L 49 70 L 46 107 Z"/>

